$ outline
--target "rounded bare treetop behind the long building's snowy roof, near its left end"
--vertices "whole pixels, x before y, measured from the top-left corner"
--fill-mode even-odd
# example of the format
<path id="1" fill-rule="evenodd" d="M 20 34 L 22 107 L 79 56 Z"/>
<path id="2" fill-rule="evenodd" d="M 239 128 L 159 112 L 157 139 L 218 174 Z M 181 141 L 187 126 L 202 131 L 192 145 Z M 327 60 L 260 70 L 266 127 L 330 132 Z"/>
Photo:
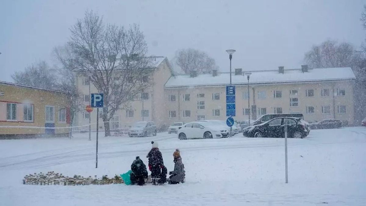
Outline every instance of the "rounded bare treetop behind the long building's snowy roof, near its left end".
<path id="1" fill-rule="evenodd" d="M 175 59 L 176 65 L 186 74 L 192 70 L 196 70 L 197 73 L 202 73 L 204 71 L 218 69 L 213 58 L 197 49 L 180 49 L 176 52 Z"/>

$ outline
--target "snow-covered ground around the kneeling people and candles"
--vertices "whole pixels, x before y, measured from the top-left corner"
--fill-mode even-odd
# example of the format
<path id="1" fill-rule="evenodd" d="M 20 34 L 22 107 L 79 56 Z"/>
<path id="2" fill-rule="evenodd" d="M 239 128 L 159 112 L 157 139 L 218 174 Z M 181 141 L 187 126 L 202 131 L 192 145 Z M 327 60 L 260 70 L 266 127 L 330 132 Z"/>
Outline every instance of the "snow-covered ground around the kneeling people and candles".
<path id="1" fill-rule="evenodd" d="M 94 135 L 95 136 L 95 135 Z M 0 140 L 0 205 L 366 205 L 366 128 L 312 130 L 288 139 L 285 184 L 284 139 L 178 140 L 156 137 Z M 186 183 L 179 185 L 23 185 L 23 176 L 55 171 L 109 177 L 130 169 L 135 156 L 147 164 L 150 141 L 158 141 L 168 171 L 179 148 Z"/>

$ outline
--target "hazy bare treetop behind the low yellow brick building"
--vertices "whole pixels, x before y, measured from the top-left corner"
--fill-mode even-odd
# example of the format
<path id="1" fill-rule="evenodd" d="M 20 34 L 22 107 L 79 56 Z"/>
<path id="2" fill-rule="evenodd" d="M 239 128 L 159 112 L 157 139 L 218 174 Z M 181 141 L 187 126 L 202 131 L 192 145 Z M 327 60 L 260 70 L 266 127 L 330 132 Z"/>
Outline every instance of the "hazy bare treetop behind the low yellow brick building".
<path id="1" fill-rule="evenodd" d="M 24 71 L 15 72 L 11 77 L 16 84 L 43 89 L 56 89 L 57 71 L 51 69 L 45 61 L 32 64 L 26 67 Z"/>

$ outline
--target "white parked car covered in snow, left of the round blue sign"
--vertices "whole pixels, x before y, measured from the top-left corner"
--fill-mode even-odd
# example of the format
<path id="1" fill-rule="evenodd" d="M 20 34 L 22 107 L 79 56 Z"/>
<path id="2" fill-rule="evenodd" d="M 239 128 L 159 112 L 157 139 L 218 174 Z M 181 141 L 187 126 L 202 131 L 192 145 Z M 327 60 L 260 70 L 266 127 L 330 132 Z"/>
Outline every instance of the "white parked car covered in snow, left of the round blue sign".
<path id="1" fill-rule="evenodd" d="M 212 121 L 195 121 L 183 125 L 178 130 L 178 139 L 211 139 L 228 137 L 227 128 L 217 122 Z"/>

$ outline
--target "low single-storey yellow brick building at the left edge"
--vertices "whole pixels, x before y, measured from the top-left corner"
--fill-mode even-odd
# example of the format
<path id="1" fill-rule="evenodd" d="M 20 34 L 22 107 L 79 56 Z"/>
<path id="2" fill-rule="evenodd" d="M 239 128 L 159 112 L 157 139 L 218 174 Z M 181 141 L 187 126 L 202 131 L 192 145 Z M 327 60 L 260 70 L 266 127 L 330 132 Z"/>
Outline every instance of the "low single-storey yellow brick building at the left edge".
<path id="1" fill-rule="evenodd" d="M 67 94 L 0 81 L 0 138 L 67 136 Z M 49 129 L 48 129 L 49 128 Z"/>

